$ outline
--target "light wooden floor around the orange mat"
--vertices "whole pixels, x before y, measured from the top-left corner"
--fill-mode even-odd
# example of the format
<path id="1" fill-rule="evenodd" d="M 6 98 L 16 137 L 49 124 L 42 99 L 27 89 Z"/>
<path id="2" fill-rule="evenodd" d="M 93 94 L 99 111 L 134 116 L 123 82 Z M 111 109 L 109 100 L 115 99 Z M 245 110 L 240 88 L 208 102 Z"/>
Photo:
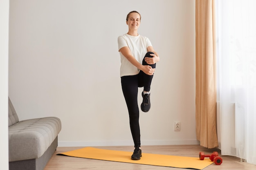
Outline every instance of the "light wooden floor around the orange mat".
<path id="1" fill-rule="evenodd" d="M 83 147 L 58 147 L 54 155 L 47 163 L 44 170 L 181 170 L 181 168 L 171 168 L 162 166 L 149 166 L 134 163 L 122 163 L 113 161 L 101 161 L 95 159 L 84 159 L 56 155 L 61 152 L 67 152 Z M 132 146 L 98 146 L 94 148 L 122 150 L 132 152 Z M 198 157 L 199 152 L 211 154 L 213 151 L 218 151 L 222 157 L 221 165 L 214 163 L 204 168 L 204 170 L 256 170 L 256 166 L 247 162 L 240 162 L 237 157 L 222 156 L 218 149 L 207 149 L 199 145 L 170 145 L 170 146 L 143 146 L 143 153 L 154 153 L 162 155 L 177 155 L 185 157 Z M 143 157 L 142 157 L 143 159 Z M 209 158 L 206 158 L 209 159 Z"/>

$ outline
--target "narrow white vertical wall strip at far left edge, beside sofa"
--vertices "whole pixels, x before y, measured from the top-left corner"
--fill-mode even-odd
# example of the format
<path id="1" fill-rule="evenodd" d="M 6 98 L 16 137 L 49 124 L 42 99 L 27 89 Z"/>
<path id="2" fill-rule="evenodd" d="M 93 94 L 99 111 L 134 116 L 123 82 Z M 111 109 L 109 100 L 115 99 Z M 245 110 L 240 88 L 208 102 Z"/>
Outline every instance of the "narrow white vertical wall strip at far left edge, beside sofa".
<path id="1" fill-rule="evenodd" d="M 0 1 L 0 165 L 9 169 L 8 156 L 8 32 L 9 0 Z"/>

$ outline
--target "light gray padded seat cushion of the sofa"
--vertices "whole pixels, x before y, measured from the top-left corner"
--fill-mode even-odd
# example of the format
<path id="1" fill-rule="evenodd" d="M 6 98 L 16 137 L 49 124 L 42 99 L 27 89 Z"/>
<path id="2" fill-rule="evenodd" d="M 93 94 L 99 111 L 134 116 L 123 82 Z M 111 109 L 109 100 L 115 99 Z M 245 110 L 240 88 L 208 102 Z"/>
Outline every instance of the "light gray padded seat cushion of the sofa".
<path id="1" fill-rule="evenodd" d="M 9 162 L 41 157 L 61 131 L 61 120 L 44 117 L 9 126 Z"/>

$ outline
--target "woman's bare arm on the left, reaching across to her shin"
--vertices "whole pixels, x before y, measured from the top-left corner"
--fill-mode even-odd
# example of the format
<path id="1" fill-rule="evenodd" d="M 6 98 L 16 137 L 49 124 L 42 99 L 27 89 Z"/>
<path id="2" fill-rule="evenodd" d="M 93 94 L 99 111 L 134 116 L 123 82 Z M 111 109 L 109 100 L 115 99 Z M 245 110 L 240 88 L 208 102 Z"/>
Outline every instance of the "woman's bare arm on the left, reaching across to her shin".
<path id="1" fill-rule="evenodd" d="M 151 66 L 144 66 L 141 63 L 139 63 L 135 57 L 133 57 L 130 49 L 128 46 L 124 46 L 119 50 L 124 57 L 127 58 L 127 60 L 132 63 L 135 67 L 137 67 L 139 70 L 143 71 L 147 75 L 153 75 L 155 72 L 155 68 L 152 68 Z M 146 60 L 145 60 L 146 61 Z"/>

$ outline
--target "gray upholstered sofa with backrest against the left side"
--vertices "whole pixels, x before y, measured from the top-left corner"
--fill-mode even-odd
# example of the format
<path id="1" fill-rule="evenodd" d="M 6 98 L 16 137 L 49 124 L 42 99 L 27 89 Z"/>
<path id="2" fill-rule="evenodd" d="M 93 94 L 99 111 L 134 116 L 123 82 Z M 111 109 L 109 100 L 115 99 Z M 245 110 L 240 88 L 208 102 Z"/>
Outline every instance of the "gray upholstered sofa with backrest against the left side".
<path id="1" fill-rule="evenodd" d="M 57 117 L 19 121 L 9 99 L 9 170 L 43 170 L 58 146 L 60 131 Z"/>

